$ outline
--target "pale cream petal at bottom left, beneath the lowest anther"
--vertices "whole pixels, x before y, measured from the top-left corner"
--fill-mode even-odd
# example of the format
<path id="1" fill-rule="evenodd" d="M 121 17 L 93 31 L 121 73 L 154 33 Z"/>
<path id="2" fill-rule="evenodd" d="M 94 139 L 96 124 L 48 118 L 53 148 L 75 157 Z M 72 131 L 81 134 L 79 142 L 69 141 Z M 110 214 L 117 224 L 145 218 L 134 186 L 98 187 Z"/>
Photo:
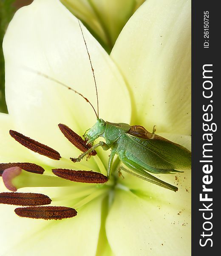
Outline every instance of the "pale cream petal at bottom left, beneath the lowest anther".
<path id="1" fill-rule="evenodd" d="M 79 209 L 76 217 L 61 221 L 21 218 L 14 213 L 15 206 L 1 205 L 1 254 L 95 255 L 101 202 L 101 198 L 96 199 Z"/>

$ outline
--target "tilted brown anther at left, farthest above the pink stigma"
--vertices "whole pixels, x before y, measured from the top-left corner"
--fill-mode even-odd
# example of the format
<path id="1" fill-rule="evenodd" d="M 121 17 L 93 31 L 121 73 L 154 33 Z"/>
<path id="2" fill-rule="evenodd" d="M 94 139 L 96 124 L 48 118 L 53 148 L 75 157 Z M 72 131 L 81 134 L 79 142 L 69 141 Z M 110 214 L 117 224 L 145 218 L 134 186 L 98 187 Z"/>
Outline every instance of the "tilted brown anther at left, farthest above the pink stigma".
<path id="1" fill-rule="evenodd" d="M 37 152 L 38 154 L 44 155 L 45 157 L 49 157 L 54 160 L 59 160 L 61 158 L 60 154 L 53 148 L 37 142 L 36 140 L 32 140 L 17 131 L 10 130 L 9 134 L 21 145 L 34 152 Z"/>

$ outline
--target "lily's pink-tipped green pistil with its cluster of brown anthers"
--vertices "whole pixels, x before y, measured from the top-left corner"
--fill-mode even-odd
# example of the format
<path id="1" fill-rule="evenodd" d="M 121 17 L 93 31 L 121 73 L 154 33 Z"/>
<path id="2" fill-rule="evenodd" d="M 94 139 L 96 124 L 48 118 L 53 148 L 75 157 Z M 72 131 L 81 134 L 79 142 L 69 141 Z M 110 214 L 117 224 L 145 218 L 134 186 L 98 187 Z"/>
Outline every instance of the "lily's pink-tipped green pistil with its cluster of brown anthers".
<path id="1" fill-rule="evenodd" d="M 87 158 L 91 155 L 96 155 L 96 151 L 91 150 L 91 145 L 67 125 L 59 124 L 58 126 L 62 134 L 74 146 L 81 150 Z M 17 131 L 10 130 L 9 134 L 14 140 L 31 151 L 53 160 L 61 159 L 59 152 L 47 145 L 26 137 Z M 113 163 L 113 169 L 116 169 L 118 165 L 119 160 L 116 160 Z M 15 213 L 21 217 L 47 220 L 71 218 L 77 215 L 76 209 L 79 209 L 99 196 L 105 197 L 108 193 L 112 195 L 113 193 L 111 191 L 119 185 L 117 175 L 112 175 L 108 180 L 108 177 L 102 173 L 94 171 L 51 168 L 51 173 L 45 174 L 44 172 L 45 170 L 42 166 L 35 163 L 0 163 L 0 176 L 3 177 L 6 188 L 13 191 L 0 193 L 0 203 L 22 206 L 15 209 Z M 119 172 L 119 176 L 122 176 L 121 172 Z M 51 199 L 43 194 L 16 192 L 17 189 L 27 187 L 66 187 L 68 193 L 61 190 L 58 197 Z M 63 206 L 42 206 L 50 204 L 51 201 L 53 203 L 63 201 L 64 204 L 71 205 L 71 208 Z"/>

